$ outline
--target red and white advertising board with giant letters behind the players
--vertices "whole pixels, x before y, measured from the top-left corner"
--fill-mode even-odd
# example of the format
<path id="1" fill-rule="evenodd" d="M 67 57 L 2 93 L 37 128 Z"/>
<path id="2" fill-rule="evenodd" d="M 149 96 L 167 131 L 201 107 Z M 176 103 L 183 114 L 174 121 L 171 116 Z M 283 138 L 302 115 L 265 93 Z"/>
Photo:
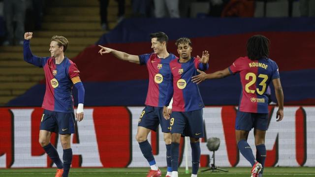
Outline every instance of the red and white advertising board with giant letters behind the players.
<path id="1" fill-rule="evenodd" d="M 220 167 L 250 166 L 236 146 L 234 123 L 235 106 L 212 106 L 203 110 L 205 134 L 201 143 L 201 166 L 207 166 L 212 152 L 205 140 L 218 137 L 221 145 L 216 151 L 216 165 Z M 88 107 L 84 120 L 76 124 L 72 135 L 72 167 L 147 167 L 135 140 L 137 123 L 143 107 Z M 315 106 L 286 106 L 284 120 L 276 121 L 277 107 L 270 106 L 269 128 L 266 133 L 266 166 L 315 166 Z M 41 108 L 0 108 L 0 168 L 52 167 L 52 161 L 38 143 Z M 149 134 L 155 159 L 166 166 L 166 147 L 163 134 Z M 253 152 L 253 133 L 248 138 Z M 184 139 L 180 150 L 183 167 Z M 63 150 L 53 134 L 51 143 Z M 190 147 L 189 161 L 191 161 Z"/>

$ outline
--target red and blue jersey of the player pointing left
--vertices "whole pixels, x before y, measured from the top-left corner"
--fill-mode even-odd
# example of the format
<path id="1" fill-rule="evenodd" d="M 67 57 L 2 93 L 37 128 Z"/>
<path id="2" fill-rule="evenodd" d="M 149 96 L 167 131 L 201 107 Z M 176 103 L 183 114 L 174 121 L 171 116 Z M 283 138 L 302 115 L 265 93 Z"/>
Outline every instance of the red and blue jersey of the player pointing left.
<path id="1" fill-rule="evenodd" d="M 157 54 L 139 56 L 140 64 L 146 64 L 149 73 L 149 86 L 145 105 L 163 107 L 167 87 L 170 84 L 169 63 L 176 56 L 169 54 L 165 59 L 159 59 Z"/>

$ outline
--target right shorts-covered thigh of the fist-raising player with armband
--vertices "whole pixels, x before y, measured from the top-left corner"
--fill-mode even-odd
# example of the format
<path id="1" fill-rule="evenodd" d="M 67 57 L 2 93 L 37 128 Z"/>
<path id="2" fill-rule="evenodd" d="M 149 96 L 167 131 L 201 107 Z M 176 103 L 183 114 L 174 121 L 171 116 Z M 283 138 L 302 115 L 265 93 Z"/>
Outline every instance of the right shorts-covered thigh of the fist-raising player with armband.
<path id="1" fill-rule="evenodd" d="M 75 132 L 75 118 L 74 113 L 56 112 L 56 119 L 58 122 L 59 134 L 73 134 Z"/>

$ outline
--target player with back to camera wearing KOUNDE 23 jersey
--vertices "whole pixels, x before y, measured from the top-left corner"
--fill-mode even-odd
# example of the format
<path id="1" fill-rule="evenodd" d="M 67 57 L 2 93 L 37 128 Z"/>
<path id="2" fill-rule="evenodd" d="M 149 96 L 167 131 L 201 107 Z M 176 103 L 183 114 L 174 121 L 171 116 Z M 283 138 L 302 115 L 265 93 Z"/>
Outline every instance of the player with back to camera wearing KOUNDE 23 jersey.
<path id="1" fill-rule="evenodd" d="M 262 35 L 254 35 L 247 42 L 247 57 L 236 59 L 224 70 L 211 74 L 202 71 L 192 77 L 199 84 L 206 79 L 220 79 L 231 74 L 240 73 L 242 92 L 235 122 L 237 147 L 252 165 L 252 177 L 262 177 L 266 159 L 265 134 L 268 129 L 268 95 L 267 88 L 272 81 L 278 111 L 276 118 L 284 118 L 284 93 L 282 90 L 278 65 L 269 59 L 270 41 Z M 256 158 L 247 143 L 248 134 L 254 128 Z"/>

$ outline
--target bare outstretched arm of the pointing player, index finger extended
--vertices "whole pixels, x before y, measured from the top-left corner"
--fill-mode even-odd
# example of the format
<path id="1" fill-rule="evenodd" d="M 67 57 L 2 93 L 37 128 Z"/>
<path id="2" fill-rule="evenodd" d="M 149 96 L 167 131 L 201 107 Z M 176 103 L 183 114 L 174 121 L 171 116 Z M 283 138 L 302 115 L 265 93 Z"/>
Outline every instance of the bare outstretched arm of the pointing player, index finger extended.
<path id="1" fill-rule="evenodd" d="M 139 56 L 130 55 L 130 54 L 127 54 L 125 52 L 117 51 L 117 50 L 114 50 L 114 49 L 111 49 L 111 48 L 108 48 L 108 47 L 104 47 L 104 46 L 101 46 L 101 45 L 98 45 L 98 46 L 101 48 L 98 51 L 98 53 L 100 55 L 111 53 L 118 59 L 122 59 L 122 60 L 126 60 L 126 61 L 129 61 L 129 62 L 140 64 Z"/>

